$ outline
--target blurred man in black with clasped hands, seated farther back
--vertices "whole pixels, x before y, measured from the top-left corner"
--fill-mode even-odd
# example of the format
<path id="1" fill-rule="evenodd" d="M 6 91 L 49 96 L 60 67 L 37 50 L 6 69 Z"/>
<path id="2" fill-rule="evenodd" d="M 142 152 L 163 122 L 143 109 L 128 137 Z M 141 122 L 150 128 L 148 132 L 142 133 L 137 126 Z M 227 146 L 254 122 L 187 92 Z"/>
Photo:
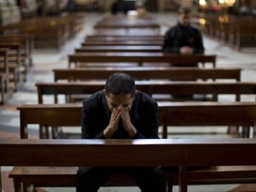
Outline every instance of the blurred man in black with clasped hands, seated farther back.
<path id="1" fill-rule="evenodd" d="M 178 10 L 177 25 L 171 27 L 164 36 L 163 51 L 182 55 L 203 53 L 202 35 L 197 28 L 190 26 L 190 9 L 181 7 Z M 177 67 L 191 67 L 197 64 L 170 64 Z"/>

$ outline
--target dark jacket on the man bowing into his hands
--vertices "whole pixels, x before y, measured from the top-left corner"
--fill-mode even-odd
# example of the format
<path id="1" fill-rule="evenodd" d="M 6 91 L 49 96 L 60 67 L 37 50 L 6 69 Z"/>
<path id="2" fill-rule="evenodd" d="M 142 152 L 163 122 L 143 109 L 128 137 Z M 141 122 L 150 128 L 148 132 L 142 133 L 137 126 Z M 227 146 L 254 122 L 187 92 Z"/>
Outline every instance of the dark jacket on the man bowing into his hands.
<path id="1" fill-rule="evenodd" d="M 158 137 L 158 105 L 147 94 L 136 91 L 132 108 L 129 111 L 130 121 L 137 129 L 133 138 L 122 127 L 119 127 L 111 139 L 156 139 Z M 82 139 L 105 139 L 103 131 L 108 127 L 111 111 L 108 108 L 105 92 L 98 91 L 83 101 Z"/>

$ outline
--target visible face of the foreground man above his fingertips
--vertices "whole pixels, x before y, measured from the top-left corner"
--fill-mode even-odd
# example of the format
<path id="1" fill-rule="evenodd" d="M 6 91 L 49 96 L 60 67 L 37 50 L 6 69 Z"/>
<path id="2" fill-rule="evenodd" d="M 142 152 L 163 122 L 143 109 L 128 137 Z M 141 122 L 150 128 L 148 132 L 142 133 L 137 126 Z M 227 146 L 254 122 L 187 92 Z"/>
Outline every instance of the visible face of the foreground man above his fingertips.
<path id="1" fill-rule="evenodd" d="M 123 106 L 130 111 L 132 108 L 132 102 L 134 101 L 134 97 L 132 94 L 112 94 L 109 93 L 106 95 L 106 101 L 108 102 L 108 108 L 110 111 L 113 111 L 114 107 Z"/>

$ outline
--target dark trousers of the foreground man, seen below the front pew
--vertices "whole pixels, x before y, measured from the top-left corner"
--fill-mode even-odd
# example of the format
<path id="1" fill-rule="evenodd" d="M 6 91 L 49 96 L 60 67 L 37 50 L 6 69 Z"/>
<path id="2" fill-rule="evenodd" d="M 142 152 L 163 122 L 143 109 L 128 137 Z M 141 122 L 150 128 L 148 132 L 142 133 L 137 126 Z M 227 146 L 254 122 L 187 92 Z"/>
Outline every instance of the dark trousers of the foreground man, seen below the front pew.
<path id="1" fill-rule="evenodd" d="M 165 192 L 166 183 L 158 167 L 79 167 L 77 192 L 96 192 L 113 173 L 128 173 L 142 192 Z"/>

